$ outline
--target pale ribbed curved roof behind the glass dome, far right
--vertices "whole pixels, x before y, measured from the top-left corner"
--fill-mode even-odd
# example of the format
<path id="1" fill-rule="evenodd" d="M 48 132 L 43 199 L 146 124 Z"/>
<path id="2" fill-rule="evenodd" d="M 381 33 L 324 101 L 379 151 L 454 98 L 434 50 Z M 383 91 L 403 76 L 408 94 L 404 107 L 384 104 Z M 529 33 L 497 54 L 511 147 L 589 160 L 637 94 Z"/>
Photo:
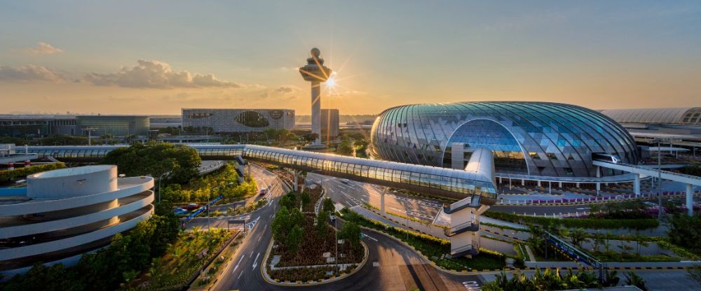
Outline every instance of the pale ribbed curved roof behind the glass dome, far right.
<path id="1" fill-rule="evenodd" d="M 605 109 L 601 113 L 622 123 L 701 125 L 701 107 Z"/>

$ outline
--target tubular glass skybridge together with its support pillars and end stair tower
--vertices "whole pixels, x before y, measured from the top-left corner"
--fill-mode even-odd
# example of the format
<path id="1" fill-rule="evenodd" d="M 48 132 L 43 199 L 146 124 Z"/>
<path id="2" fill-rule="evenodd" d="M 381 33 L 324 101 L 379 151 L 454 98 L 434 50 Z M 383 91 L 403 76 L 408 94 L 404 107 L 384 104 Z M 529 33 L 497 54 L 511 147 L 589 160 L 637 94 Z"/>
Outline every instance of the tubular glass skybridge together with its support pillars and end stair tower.
<path id="1" fill-rule="evenodd" d="M 243 178 L 245 160 L 276 164 L 295 171 L 313 171 L 327 176 L 458 199 L 445 208 L 451 215 L 451 255 L 475 255 L 479 250 L 479 224 L 482 205 L 494 204 L 497 197 L 494 162 L 490 150 L 477 149 L 465 169 L 404 164 L 376 159 L 346 157 L 303 150 L 254 145 L 189 145 L 202 159 L 234 159 Z M 30 146 L 28 152 L 66 162 L 97 162 L 107 152 L 123 146 Z M 296 172 L 297 173 L 297 172 Z M 296 176 L 296 175 L 295 175 Z M 384 199 L 381 199 L 383 201 Z M 383 207 L 382 207 L 383 208 Z M 452 219 L 454 218 L 454 220 Z"/>

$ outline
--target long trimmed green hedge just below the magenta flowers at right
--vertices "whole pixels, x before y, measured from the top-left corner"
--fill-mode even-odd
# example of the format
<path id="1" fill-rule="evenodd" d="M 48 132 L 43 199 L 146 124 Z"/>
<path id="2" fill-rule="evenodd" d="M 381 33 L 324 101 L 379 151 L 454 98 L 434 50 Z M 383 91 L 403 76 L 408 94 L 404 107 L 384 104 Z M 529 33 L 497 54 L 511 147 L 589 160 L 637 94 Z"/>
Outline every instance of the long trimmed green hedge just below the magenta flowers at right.
<path id="1" fill-rule="evenodd" d="M 660 226 L 656 219 L 603 219 L 603 218 L 542 218 L 517 215 L 512 213 L 486 211 L 486 217 L 526 225 L 547 226 L 562 225 L 563 227 L 585 229 L 651 229 Z"/>

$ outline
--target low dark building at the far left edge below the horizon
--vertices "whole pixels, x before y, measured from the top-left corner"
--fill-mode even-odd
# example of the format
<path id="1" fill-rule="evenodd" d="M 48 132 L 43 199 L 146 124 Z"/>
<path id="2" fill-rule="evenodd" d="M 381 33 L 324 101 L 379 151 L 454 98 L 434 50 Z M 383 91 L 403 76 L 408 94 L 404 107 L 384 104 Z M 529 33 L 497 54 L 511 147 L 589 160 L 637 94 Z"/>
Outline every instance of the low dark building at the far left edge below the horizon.
<path id="1" fill-rule="evenodd" d="M 48 136 L 76 134 L 76 118 L 71 115 L 0 115 L 0 136 Z"/>

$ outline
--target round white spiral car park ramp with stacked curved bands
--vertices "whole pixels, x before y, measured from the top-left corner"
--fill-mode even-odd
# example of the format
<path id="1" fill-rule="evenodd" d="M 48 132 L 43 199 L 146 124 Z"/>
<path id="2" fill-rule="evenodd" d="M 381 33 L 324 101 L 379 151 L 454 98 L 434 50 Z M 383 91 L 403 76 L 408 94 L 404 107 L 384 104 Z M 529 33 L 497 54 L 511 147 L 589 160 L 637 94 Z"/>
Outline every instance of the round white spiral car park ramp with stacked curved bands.
<path id="1" fill-rule="evenodd" d="M 118 178 L 113 165 L 27 176 L 26 188 L 0 190 L 0 274 L 36 262 L 76 264 L 154 212 L 154 178 Z"/>

